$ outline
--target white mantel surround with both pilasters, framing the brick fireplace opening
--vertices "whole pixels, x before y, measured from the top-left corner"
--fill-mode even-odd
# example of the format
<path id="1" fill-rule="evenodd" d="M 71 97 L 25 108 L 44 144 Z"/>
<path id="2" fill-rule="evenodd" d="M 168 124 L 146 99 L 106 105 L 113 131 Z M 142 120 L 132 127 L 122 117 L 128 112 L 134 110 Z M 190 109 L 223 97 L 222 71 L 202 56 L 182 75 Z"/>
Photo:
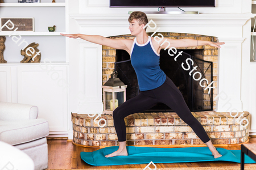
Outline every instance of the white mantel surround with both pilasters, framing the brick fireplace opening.
<path id="1" fill-rule="evenodd" d="M 225 42 L 219 49 L 218 93 L 228 96 L 217 100 L 216 111 L 226 112 L 226 101 L 239 112 L 247 109 L 247 84 L 242 82 L 249 73 L 250 18 L 254 14 L 147 14 L 154 20 L 158 32 L 193 33 L 216 36 Z M 118 36 L 130 34 L 129 14 L 75 14 L 71 15 L 80 26 L 80 32 L 88 35 Z M 150 24 L 152 27 L 153 24 Z M 155 29 L 155 30 L 156 30 Z M 147 32 L 155 30 L 147 29 Z M 85 102 L 80 112 L 102 112 L 102 46 L 82 39 L 79 58 L 79 91 L 84 92 Z M 94 83 L 92 83 L 94 82 Z M 244 95 L 244 96 L 243 96 Z M 227 104 L 228 105 L 228 104 Z M 80 109 L 81 108 L 81 109 Z"/>

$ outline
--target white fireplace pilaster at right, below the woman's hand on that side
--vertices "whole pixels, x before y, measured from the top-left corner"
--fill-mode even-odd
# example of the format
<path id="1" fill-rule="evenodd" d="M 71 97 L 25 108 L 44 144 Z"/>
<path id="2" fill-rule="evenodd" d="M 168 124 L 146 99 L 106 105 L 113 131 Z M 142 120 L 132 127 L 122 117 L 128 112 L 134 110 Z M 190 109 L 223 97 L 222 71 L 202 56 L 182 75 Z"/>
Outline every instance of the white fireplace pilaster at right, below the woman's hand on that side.
<path id="1" fill-rule="evenodd" d="M 241 51 L 244 38 L 219 37 L 218 40 L 225 42 L 225 45 L 219 49 L 218 94 L 220 96 L 216 99 L 216 112 L 242 112 Z"/>

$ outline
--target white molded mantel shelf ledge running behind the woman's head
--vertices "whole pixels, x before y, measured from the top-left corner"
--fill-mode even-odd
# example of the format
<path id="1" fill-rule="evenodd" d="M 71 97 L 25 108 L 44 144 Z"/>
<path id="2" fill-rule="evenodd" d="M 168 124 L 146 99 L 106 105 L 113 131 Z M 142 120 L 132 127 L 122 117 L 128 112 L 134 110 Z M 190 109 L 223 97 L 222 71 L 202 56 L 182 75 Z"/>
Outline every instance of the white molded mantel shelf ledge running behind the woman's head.
<path id="1" fill-rule="evenodd" d="M 256 14 L 147 14 L 148 21 L 151 19 L 159 26 L 180 26 L 180 25 L 229 25 L 241 26 L 247 20 L 253 18 Z M 129 14 L 71 14 L 72 19 L 75 19 L 80 26 L 127 26 Z M 111 21 L 111 23 L 109 23 Z M 196 21 L 196 22 L 195 22 Z"/>

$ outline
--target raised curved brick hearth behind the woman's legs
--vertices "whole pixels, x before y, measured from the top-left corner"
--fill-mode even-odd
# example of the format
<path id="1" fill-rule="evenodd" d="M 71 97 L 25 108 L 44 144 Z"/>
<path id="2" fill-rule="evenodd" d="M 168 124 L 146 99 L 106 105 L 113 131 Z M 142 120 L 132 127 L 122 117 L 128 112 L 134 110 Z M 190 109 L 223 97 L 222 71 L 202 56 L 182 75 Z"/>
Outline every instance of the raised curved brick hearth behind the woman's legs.
<path id="1" fill-rule="evenodd" d="M 249 113 L 243 116 L 249 120 Z M 226 112 L 192 112 L 203 125 L 214 145 L 239 144 L 246 142 L 249 136 L 248 126 L 243 128 L 236 118 Z M 235 113 L 233 113 L 234 115 Z M 94 116 L 96 117 L 96 116 Z M 72 113 L 73 143 L 84 146 L 117 146 L 118 139 L 114 129 L 113 116 L 102 114 L 100 118 L 107 120 L 100 128 L 94 117 L 87 114 Z M 241 120 L 242 118 L 240 118 Z M 250 120 L 249 120 L 250 122 Z M 247 122 L 243 121 L 242 125 Z M 100 125 L 103 125 L 101 121 Z M 174 112 L 168 113 L 135 113 L 125 118 L 126 143 L 128 146 L 170 146 L 170 145 L 202 145 L 201 139 Z"/>

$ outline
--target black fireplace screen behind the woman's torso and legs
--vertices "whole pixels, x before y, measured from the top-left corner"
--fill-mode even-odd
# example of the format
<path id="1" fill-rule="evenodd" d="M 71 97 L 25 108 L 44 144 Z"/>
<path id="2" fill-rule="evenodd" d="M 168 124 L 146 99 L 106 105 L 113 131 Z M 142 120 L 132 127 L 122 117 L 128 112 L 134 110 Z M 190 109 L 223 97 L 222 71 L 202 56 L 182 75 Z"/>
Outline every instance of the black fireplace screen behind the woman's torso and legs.
<path id="1" fill-rule="evenodd" d="M 177 50 L 178 54 L 181 50 Z M 166 75 L 174 82 L 176 87 L 180 90 L 184 97 L 186 104 L 191 112 L 199 111 L 212 111 L 213 110 L 213 88 L 208 94 L 208 90 L 204 90 L 213 81 L 213 63 L 210 61 L 204 61 L 202 49 L 195 50 L 183 50 L 182 55 L 176 58 L 168 54 L 168 50 L 160 51 L 160 68 L 166 73 Z M 189 54 L 190 53 L 190 54 Z M 197 57 L 195 57 L 197 56 Z M 191 58 L 193 65 L 188 60 L 190 69 L 184 70 L 181 67 L 181 63 L 184 63 L 184 67 L 188 68 L 186 59 Z M 115 58 L 115 71 L 118 72 L 118 78 L 127 85 L 126 88 L 126 100 L 129 100 L 139 94 L 139 86 L 137 81 L 137 75 L 133 66 L 131 66 L 130 55 L 125 50 L 118 50 Z M 196 67 L 197 66 L 197 67 Z M 196 67 L 196 70 L 189 75 L 189 72 Z M 200 74 L 195 74 L 195 80 L 193 74 L 198 71 L 201 73 L 201 79 L 205 78 L 201 84 L 205 87 L 200 86 Z M 211 87 L 213 84 L 211 84 Z M 166 104 L 158 103 L 154 107 L 144 112 L 174 112 Z"/>

